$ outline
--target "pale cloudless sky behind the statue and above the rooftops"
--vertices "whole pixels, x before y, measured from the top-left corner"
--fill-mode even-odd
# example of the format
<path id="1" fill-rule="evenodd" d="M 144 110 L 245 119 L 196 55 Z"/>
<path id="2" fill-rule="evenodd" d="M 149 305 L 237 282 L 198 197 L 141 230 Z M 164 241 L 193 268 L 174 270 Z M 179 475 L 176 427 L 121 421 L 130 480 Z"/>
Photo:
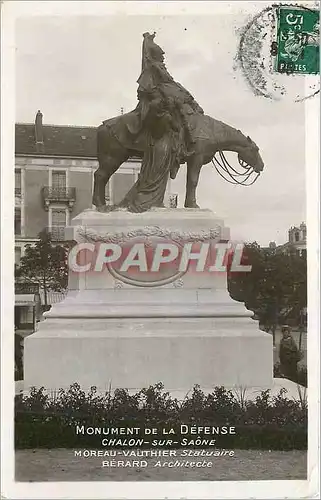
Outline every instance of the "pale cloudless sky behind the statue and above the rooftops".
<path id="1" fill-rule="evenodd" d="M 211 15 L 21 17 L 16 21 L 16 121 L 33 122 L 40 109 L 44 124 L 98 126 L 121 107 L 132 110 L 142 34 L 156 31 L 155 42 L 165 51 L 174 79 L 206 114 L 250 135 L 265 164 L 250 187 L 233 186 L 211 164 L 203 166 L 198 204 L 223 218 L 234 239 L 282 244 L 288 229 L 306 219 L 305 109 L 304 102 L 255 95 L 235 65 L 239 30 L 263 7 L 236 2 Z M 172 184 L 180 204 L 185 179 L 182 167 Z"/>

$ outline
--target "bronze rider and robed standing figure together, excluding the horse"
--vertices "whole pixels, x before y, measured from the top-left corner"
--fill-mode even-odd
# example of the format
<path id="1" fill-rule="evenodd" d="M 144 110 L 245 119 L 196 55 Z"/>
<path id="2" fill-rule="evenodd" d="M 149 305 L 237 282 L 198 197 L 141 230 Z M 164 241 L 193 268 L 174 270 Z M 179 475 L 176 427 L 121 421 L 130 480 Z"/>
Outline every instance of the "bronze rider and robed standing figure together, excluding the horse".
<path id="1" fill-rule="evenodd" d="M 121 206 L 133 212 L 163 206 L 170 171 L 177 171 L 192 145 L 186 115 L 203 113 L 193 96 L 175 82 L 164 64 L 164 51 L 144 33 L 142 71 L 137 80 L 139 114 L 137 132 L 146 148 L 137 182 Z"/>

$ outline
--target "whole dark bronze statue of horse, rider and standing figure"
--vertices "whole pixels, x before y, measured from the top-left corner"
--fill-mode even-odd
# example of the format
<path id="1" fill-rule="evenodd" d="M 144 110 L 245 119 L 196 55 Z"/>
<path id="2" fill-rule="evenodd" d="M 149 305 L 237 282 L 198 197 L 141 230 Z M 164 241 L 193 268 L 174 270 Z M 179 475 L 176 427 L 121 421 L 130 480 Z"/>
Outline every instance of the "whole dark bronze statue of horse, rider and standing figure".
<path id="1" fill-rule="evenodd" d="M 99 211 L 110 210 L 105 205 L 105 186 L 132 156 L 143 159 L 141 172 L 119 206 L 134 212 L 163 206 L 168 177 L 174 179 L 185 162 L 187 208 L 198 208 L 196 187 L 201 167 L 217 152 L 238 153 L 239 163 L 257 173 L 264 167 L 259 148 L 250 137 L 204 115 L 191 94 L 173 80 L 154 37 L 144 34 L 137 107 L 104 121 L 97 130 L 99 168 L 95 172 L 93 204 Z"/>

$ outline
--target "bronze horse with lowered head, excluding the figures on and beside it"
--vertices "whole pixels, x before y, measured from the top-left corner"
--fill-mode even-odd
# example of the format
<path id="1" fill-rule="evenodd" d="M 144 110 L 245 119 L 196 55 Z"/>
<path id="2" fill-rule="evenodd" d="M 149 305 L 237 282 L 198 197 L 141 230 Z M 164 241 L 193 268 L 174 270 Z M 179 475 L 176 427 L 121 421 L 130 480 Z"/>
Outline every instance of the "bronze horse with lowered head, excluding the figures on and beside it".
<path id="1" fill-rule="evenodd" d="M 144 154 L 144 135 L 136 132 L 139 129 L 139 120 L 139 113 L 133 110 L 106 120 L 97 129 L 99 168 L 94 175 L 93 204 L 99 211 L 108 210 L 105 204 L 105 186 L 110 177 L 128 158 L 142 158 Z M 236 152 L 241 166 L 250 166 L 252 171 L 258 174 L 263 170 L 264 163 L 259 148 L 240 130 L 203 114 L 190 115 L 189 122 L 194 131 L 195 143 L 193 154 L 186 159 L 186 208 L 199 208 L 196 203 L 196 188 L 201 167 L 213 161 L 218 152 Z M 182 159 L 181 163 L 185 163 L 185 160 Z M 234 169 L 233 171 L 235 172 Z M 175 178 L 176 174 L 177 170 L 172 171 L 171 178 Z"/>

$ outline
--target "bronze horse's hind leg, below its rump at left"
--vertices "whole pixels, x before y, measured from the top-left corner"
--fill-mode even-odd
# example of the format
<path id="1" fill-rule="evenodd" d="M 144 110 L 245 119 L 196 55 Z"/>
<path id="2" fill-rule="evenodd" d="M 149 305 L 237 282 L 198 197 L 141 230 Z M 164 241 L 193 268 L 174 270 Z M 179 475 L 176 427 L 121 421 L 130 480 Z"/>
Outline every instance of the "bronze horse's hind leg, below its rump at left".
<path id="1" fill-rule="evenodd" d="M 119 169 L 120 165 L 128 159 L 128 155 L 124 153 L 122 157 L 104 155 L 99 158 L 99 167 L 94 173 L 94 190 L 93 190 L 93 205 L 98 210 L 103 211 L 106 207 L 105 188 L 110 177 Z"/>

